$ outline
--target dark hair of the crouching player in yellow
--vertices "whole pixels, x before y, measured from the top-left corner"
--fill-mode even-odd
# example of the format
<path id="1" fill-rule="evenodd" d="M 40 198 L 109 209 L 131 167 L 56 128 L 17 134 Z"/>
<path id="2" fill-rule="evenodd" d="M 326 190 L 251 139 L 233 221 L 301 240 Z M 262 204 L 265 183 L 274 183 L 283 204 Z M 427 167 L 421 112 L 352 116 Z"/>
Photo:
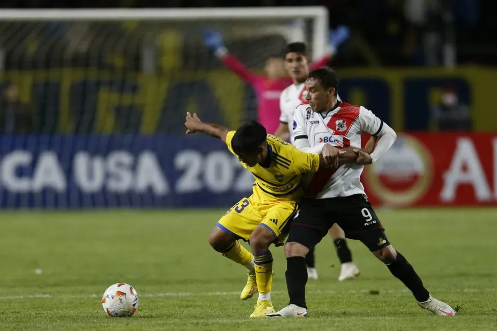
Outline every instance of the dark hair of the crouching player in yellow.
<path id="1" fill-rule="evenodd" d="M 266 129 L 262 124 L 251 121 L 237 129 L 231 140 L 231 148 L 235 154 L 253 153 L 262 145 L 267 137 Z"/>

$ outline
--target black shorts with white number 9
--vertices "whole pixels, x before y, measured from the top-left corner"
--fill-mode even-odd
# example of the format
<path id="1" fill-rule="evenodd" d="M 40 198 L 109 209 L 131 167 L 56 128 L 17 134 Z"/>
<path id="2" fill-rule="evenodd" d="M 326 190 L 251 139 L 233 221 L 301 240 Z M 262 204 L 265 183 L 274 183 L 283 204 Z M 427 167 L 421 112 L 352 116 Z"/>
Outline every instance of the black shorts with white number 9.
<path id="1" fill-rule="evenodd" d="M 363 194 L 302 200 L 287 242 L 313 248 L 335 223 L 345 232 L 346 238 L 360 240 L 371 251 L 390 245 L 385 229 Z"/>

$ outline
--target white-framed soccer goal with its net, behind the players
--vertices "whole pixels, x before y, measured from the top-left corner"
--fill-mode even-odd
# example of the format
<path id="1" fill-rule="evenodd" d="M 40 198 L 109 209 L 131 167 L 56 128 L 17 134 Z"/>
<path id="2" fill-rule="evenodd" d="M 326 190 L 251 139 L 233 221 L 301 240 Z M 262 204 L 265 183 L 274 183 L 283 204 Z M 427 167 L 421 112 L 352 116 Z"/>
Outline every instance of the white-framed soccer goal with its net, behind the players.
<path id="1" fill-rule="evenodd" d="M 184 137 L 185 112 L 235 128 L 256 100 L 202 31 L 262 73 L 291 41 L 321 56 L 327 25 L 321 7 L 0 10 L 0 206 L 229 205 L 250 178 Z"/>

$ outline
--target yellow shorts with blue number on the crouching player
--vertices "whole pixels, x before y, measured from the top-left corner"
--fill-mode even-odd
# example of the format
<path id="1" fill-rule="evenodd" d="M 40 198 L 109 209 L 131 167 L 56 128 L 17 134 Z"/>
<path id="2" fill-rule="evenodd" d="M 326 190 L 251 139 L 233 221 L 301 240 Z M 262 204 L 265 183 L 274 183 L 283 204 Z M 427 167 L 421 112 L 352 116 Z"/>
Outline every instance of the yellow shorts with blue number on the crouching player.
<path id="1" fill-rule="evenodd" d="M 273 232 L 275 239 L 278 239 L 276 243 L 281 241 L 280 237 L 286 236 L 288 227 L 285 227 L 289 225 L 297 209 L 295 201 L 262 204 L 254 202 L 250 196 L 231 207 L 217 226 L 237 239 L 248 241 L 255 228 L 262 224 Z"/>

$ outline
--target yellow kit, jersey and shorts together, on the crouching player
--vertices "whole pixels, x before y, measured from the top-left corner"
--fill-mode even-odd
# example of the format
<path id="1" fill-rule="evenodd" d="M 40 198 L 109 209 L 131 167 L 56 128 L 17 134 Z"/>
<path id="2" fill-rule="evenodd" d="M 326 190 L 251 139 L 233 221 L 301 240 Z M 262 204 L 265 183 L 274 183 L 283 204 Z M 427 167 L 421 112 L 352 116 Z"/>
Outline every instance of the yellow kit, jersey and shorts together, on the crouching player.
<path id="1" fill-rule="evenodd" d="M 234 134 L 228 133 L 226 145 L 236 155 L 231 147 Z M 267 145 L 265 164 L 250 167 L 242 163 L 255 178 L 253 194 L 240 200 L 218 222 L 224 231 L 245 241 L 262 223 L 281 242 L 282 231 L 298 209 L 296 199 L 304 194 L 302 173 L 316 172 L 320 164 L 319 155 L 303 153 L 277 137 L 267 135 Z"/>

